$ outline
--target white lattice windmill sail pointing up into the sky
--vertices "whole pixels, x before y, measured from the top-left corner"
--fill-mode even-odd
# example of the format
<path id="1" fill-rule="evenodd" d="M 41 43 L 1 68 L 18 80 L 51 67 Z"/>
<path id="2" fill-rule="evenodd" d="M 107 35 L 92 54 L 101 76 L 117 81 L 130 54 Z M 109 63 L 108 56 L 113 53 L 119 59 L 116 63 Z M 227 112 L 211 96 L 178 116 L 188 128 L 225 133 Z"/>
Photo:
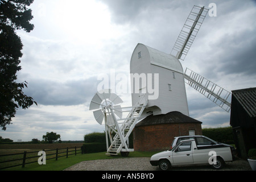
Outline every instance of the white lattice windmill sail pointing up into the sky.
<path id="1" fill-rule="evenodd" d="M 189 48 L 191 47 L 197 32 L 203 24 L 204 18 L 207 15 L 208 9 L 199 6 L 193 6 L 191 13 L 172 48 L 171 55 L 177 57 L 177 59 L 184 60 Z"/>

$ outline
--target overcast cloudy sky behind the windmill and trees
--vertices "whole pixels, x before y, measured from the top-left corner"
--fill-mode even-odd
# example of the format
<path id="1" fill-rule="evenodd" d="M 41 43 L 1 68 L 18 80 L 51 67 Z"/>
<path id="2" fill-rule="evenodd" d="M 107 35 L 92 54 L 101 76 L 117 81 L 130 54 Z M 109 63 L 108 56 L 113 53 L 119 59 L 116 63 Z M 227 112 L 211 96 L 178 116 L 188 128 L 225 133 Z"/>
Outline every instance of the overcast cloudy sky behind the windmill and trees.
<path id="1" fill-rule="evenodd" d="M 42 140 L 46 132 L 61 140 L 83 140 L 103 132 L 89 111 L 103 74 L 129 76 L 130 58 L 138 43 L 170 53 L 193 5 L 216 4 L 216 16 L 204 20 L 181 62 L 231 92 L 256 86 L 255 1 L 170 0 L 35 0 L 30 6 L 35 28 L 18 31 L 23 57 L 18 82 L 27 81 L 28 96 L 38 106 L 18 109 L 3 138 Z M 229 126 L 230 113 L 199 92 L 187 89 L 189 116 L 202 127 Z M 129 93 L 120 94 L 131 106 Z"/>

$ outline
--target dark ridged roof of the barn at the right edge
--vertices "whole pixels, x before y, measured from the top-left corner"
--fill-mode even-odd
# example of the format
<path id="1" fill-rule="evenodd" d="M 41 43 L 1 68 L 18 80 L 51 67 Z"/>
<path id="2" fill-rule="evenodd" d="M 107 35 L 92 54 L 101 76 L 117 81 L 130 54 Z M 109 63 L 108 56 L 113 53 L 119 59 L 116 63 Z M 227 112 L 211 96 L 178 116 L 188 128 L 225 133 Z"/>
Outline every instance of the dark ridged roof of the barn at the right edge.
<path id="1" fill-rule="evenodd" d="M 232 96 L 237 99 L 250 117 L 256 117 L 256 87 L 233 90 Z"/>

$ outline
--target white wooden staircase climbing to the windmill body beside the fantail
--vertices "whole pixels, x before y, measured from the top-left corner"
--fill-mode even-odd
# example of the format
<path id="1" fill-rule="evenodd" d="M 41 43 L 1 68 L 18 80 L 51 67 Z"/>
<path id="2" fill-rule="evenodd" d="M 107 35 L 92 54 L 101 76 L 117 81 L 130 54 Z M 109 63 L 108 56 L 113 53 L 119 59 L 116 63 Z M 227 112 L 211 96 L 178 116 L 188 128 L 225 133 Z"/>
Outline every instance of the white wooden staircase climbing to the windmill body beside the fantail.
<path id="1" fill-rule="evenodd" d="M 141 118 L 144 108 L 147 105 L 147 100 L 144 95 L 140 96 L 139 101 L 135 104 L 130 113 L 127 115 L 125 121 L 119 127 L 117 119 L 115 120 L 115 136 L 111 141 L 111 145 L 108 148 L 107 155 L 117 155 L 119 152 L 130 152 L 133 149 L 129 147 L 129 135 L 133 131 L 135 125 Z M 114 115 L 113 115 L 114 116 Z"/>

